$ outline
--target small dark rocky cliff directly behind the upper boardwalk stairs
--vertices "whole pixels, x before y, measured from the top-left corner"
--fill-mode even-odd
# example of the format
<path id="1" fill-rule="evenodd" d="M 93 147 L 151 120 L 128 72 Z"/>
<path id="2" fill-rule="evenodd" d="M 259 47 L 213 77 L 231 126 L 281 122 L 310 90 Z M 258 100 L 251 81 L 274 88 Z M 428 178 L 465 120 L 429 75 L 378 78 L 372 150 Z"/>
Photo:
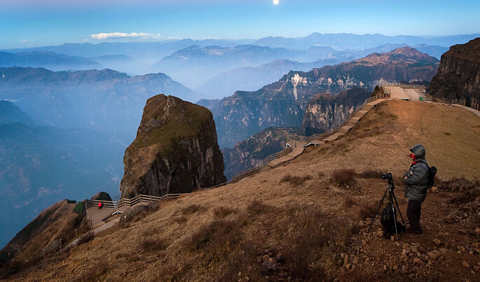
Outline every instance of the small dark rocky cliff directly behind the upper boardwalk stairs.
<path id="1" fill-rule="evenodd" d="M 322 134 L 338 127 L 369 96 L 370 92 L 362 88 L 353 88 L 338 95 L 315 95 L 305 109 L 302 134 Z"/>

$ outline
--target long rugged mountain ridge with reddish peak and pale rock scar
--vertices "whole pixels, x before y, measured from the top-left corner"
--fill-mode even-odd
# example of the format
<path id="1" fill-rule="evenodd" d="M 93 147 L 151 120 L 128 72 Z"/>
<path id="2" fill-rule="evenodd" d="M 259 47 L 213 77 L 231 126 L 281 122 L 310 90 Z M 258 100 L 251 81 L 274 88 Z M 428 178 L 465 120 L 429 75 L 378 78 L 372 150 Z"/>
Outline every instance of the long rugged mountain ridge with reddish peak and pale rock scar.
<path id="1" fill-rule="evenodd" d="M 430 81 L 437 66 L 438 59 L 404 47 L 308 72 L 290 71 L 260 90 L 237 91 L 212 106 L 219 145 L 231 148 L 266 127 L 300 127 L 304 108 L 315 94 L 338 94 L 352 87 L 373 90 L 385 82 Z"/>

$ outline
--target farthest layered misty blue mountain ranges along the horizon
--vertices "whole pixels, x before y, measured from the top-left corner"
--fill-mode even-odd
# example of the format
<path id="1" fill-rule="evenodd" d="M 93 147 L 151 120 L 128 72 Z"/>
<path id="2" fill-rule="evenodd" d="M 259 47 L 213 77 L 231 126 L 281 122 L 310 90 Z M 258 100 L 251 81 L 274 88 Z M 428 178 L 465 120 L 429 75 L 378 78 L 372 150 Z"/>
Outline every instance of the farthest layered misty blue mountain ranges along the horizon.
<path id="1" fill-rule="evenodd" d="M 223 79 L 221 73 L 238 68 L 256 68 L 276 59 L 292 62 L 324 64 L 349 62 L 373 52 L 389 52 L 406 45 L 420 52 L 440 58 L 452 43 L 465 43 L 476 35 L 425 37 L 425 36 L 383 36 L 380 34 L 310 34 L 303 38 L 268 37 L 254 40 L 201 40 L 191 39 L 129 42 L 72 44 L 38 48 L 4 50 L 0 66 L 43 67 L 53 71 L 115 69 L 131 76 L 137 73 L 166 73 L 174 80 L 198 88 L 204 98 L 221 98 L 235 90 L 254 90 L 259 85 L 271 83 L 273 77 L 259 71 L 240 70 L 247 77 L 259 74 L 258 83 L 251 87 L 245 80 L 235 81 L 227 91 L 218 91 L 214 80 Z M 13 58 L 13 57 L 16 57 Z M 306 71 L 307 69 L 291 69 Z M 282 69 L 283 72 L 289 70 Z M 249 73 L 247 73 L 249 72 Z M 275 78 L 277 79 L 277 78 Z M 212 80 L 212 81 L 208 81 Z M 241 83 L 241 85 L 240 85 Z M 210 87 L 211 86 L 211 87 Z"/>

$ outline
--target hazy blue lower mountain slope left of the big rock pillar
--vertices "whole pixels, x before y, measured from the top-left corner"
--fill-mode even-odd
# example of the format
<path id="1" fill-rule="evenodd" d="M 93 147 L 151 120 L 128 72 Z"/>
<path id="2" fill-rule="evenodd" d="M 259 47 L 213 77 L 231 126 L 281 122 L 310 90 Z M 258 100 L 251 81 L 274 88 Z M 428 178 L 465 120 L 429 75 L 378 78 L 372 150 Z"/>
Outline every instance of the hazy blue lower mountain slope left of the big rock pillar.
<path id="1" fill-rule="evenodd" d="M 96 131 L 39 126 L 0 101 L 0 246 L 60 199 L 85 199 L 100 190 L 118 194 L 121 143 Z"/>

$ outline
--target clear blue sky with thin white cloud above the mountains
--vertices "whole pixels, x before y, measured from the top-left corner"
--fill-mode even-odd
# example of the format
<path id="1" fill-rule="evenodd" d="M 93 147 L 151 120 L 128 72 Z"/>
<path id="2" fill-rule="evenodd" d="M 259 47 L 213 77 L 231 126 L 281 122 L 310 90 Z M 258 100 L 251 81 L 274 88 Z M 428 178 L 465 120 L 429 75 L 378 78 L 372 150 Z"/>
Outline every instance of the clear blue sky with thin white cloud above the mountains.
<path id="1" fill-rule="evenodd" d="M 390 36 L 480 32 L 479 0 L 278 1 L 275 5 L 272 0 L 0 0 L 0 48 L 165 38 L 303 37 L 313 32 Z"/>

